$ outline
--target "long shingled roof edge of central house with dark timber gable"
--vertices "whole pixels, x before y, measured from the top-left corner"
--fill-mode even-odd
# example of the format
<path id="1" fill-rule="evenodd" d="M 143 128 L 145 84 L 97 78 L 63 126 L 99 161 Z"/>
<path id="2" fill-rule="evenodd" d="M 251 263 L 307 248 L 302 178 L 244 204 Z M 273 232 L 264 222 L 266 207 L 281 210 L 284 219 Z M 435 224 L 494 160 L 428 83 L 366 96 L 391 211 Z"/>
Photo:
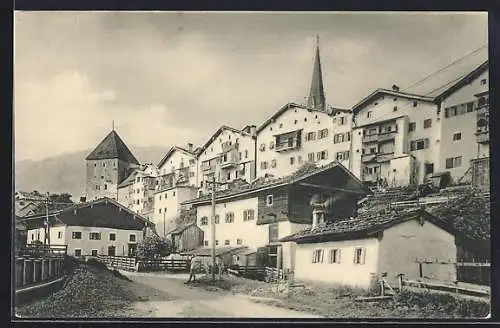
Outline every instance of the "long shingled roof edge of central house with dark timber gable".
<path id="1" fill-rule="evenodd" d="M 283 186 L 283 185 L 287 185 L 287 184 L 292 184 L 292 183 L 298 182 L 300 180 L 306 179 L 308 177 L 314 176 L 318 173 L 321 173 L 323 171 L 326 171 L 326 170 L 329 170 L 332 168 L 338 168 L 339 170 L 342 170 L 347 176 L 349 176 L 351 179 L 353 179 L 358 184 L 360 192 L 364 192 L 367 195 L 372 193 L 359 179 L 357 179 L 342 164 L 340 164 L 337 161 L 333 161 L 333 162 L 326 164 L 326 165 L 323 165 L 323 166 L 305 164 L 301 168 L 299 168 L 296 172 L 294 172 L 288 176 L 284 176 L 284 177 L 280 177 L 280 178 L 260 177 L 258 179 L 255 179 L 251 183 L 235 185 L 233 189 L 218 191 L 215 193 L 215 197 L 216 197 L 216 199 L 219 199 L 219 198 L 223 198 L 223 197 L 225 198 L 225 197 L 239 196 L 241 194 L 256 192 L 256 191 L 259 191 L 261 189 L 269 189 L 269 188 L 275 188 L 275 187 L 279 187 L 279 186 Z M 201 197 L 185 201 L 182 204 L 209 202 L 211 200 L 211 197 L 212 197 L 211 194 L 203 195 Z"/>

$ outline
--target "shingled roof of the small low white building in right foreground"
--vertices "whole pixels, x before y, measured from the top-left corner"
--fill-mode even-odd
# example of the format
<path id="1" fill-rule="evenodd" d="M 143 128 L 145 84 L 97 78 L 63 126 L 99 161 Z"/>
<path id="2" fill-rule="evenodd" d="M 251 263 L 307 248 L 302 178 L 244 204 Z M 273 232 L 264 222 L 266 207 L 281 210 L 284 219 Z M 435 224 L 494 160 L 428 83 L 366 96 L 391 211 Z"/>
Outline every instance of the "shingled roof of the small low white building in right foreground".
<path id="1" fill-rule="evenodd" d="M 441 229 L 456 235 L 457 231 L 445 221 L 438 219 L 422 209 L 391 210 L 370 215 L 358 215 L 347 220 L 332 220 L 320 224 L 315 229 L 305 229 L 295 234 L 286 236 L 280 241 L 295 241 L 297 243 L 318 243 L 326 241 L 352 240 L 373 238 L 397 224 L 423 218 Z"/>

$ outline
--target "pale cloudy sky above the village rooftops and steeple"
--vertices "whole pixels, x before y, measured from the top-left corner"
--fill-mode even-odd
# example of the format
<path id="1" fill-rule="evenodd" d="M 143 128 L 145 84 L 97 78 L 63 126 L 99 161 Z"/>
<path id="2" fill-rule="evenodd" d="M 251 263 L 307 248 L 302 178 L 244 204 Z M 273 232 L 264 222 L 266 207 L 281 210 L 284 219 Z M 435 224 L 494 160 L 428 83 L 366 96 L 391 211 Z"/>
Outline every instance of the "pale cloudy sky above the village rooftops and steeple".
<path id="1" fill-rule="evenodd" d="M 303 103 L 316 35 L 327 103 L 349 108 L 488 42 L 486 13 L 16 12 L 18 160 L 203 144 Z"/>

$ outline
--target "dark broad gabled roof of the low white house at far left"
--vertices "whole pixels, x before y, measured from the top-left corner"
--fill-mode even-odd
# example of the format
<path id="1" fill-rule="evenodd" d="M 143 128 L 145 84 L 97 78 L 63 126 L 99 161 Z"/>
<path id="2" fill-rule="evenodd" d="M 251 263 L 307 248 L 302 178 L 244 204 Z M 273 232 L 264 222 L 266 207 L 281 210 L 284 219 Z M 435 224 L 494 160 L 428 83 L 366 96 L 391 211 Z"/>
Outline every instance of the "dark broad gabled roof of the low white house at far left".
<path id="1" fill-rule="evenodd" d="M 110 198 L 101 198 L 49 213 L 51 221 L 68 226 L 142 230 L 153 223 Z M 33 227 L 43 225 L 45 215 L 33 215 L 18 220 Z"/>

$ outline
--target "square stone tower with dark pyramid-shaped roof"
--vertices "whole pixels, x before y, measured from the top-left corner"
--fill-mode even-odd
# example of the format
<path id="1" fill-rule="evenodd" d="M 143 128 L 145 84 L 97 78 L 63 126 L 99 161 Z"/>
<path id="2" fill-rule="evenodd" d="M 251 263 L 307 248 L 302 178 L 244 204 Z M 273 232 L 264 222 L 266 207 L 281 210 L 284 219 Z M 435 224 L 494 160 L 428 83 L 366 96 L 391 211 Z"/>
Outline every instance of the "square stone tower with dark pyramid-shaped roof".
<path id="1" fill-rule="evenodd" d="M 118 185 L 139 166 L 130 149 L 113 129 L 87 156 L 87 201 L 118 198 Z"/>

